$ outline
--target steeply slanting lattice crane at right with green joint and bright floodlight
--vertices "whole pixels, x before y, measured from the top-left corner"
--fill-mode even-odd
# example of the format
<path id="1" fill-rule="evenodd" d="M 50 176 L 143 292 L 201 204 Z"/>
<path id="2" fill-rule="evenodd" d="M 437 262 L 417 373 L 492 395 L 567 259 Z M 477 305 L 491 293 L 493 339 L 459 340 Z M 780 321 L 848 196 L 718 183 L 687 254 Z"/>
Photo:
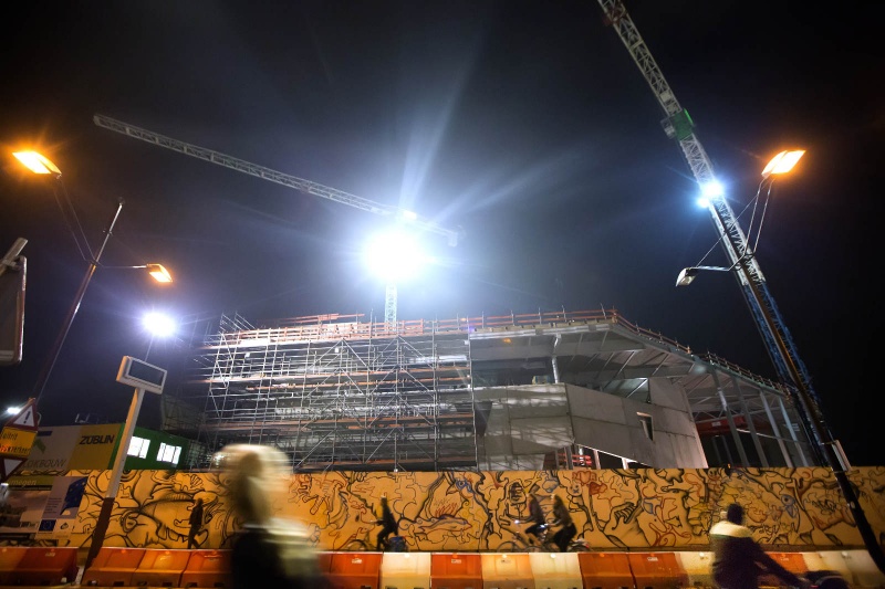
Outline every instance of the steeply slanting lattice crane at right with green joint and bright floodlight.
<path id="1" fill-rule="evenodd" d="M 633 61 L 636 62 L 646 82 L 652 87 L 652 92 L 654 92 L 658 103 L 664 108 L 666 113 L 666 118 L 662 122 L 664 130 L 668 137 L 679 144 L 695 179 L 700 186 L 715 181 L 712 164 L 704 146 L 700 145 L 697 135 L 695 135 L 694 123 L 688 116 L 688 112 L 676 99 L 676 95 L 664 78 L 664 74 L 639 35 L 626 8 L 624 8 L 621 0 L 598 0 L 598 2 L 603 12 L 605 12 L 608 23 L 617 32 L 621 41 L 627 48 L 631 56 L 633 56 Z M 743 266 L 745 272 L 736 272 L 735 275 L 766 343 L 778 376 L 785 383 L 792 382 L 795 379 L 795 375 L 791 370 L 790 364 L 794 365 L 795 372 L 801 379 L 801 382 L 795 385 L 803 386 L 809 391 L 813 402 L 815 404 L 820 403 L 818 395 L 812 387 L 808 369 L 799 357 L 793 338 L 783 323 L 778 305 L 769 292 L 762 270 L 759 267 L 747 236 L 738 224 L 735 212 L 725 197 L 709 199 L 708 210 L 717 232 L 722 238 L 720 242 L 732 267 Z M 779 346 L 779 341 L 782 341 L 783 345 Z M 785 349 L 781 350 L 781 347 Z"/>

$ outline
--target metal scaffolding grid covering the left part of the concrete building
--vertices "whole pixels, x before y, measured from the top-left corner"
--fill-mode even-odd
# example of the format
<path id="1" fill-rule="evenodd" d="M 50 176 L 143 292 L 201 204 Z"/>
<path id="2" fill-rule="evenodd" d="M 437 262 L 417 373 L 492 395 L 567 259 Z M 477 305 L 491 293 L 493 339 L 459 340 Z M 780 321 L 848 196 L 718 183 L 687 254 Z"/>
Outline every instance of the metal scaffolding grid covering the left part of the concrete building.
<path id="1" fill-rule="evenodd" d="M 272 444 L 301 471 L 476 466 L 469 346 L 457 324 L 391 329 L 323 315 L 243 327 L 208 335 L 186 374 L 179 397 L 202 398 L 201 446 Z"/>

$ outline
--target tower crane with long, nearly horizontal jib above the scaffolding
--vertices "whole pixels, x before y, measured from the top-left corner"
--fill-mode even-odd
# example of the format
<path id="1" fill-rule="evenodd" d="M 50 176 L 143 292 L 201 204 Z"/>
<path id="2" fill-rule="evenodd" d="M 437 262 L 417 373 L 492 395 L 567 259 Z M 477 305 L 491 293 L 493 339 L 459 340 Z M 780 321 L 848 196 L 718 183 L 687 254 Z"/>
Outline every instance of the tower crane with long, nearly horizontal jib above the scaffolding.
<path id="1" fill-rule="evenodd" d="M 173 151 L 195 157 L 210 164 L 223 166 L 225 168 L 230 168 L 231 170 L 241 171 L 263 180 L 277 182 L 278 185 L 287 186 L 289 188 L 294 188 L 295 190 L 306 192 L 308 194 L 313 194 L 314 197 L 329 199 L 363 211 L 396 219 L 421 231 L 442 235 L 447 239 L 448 244 L 451 246 L 457 245 L 458 240 L 464 236 L 464 233 L 460 229 L 455 230 L 441 227 L 428 219 L 419 217 L 414 211 L 409 211 L 407 209 L 373 202 L 368 199 L 351 194 L 350 192 L 345 192 L 343 190 L 330 188 L 317 182 L 312 182 L 310 180 L 304 180 L 295 176 L 266 168 L 264 166 L 251 164 L 249 161 L 221 154 L 220 151 L 215 151 L 214 149 L 208 149 L 206 147 L 173 139 L 171 137 L 143 129 L 140 127 L 136 127 L 135 125 L 131 125 L 105 115 L 96 114 L 93 116 L 92 120 L 98 127 L 126 135 L 127 137 L 132 137 L 134 139 L 140 139 L 152 145 L 165 147 L 166 149 L 171 149 Z M 394 327 L 396 325 L 396 284 L 388 282 L 384 297 L 384 320 L 388 327 Z"/>

